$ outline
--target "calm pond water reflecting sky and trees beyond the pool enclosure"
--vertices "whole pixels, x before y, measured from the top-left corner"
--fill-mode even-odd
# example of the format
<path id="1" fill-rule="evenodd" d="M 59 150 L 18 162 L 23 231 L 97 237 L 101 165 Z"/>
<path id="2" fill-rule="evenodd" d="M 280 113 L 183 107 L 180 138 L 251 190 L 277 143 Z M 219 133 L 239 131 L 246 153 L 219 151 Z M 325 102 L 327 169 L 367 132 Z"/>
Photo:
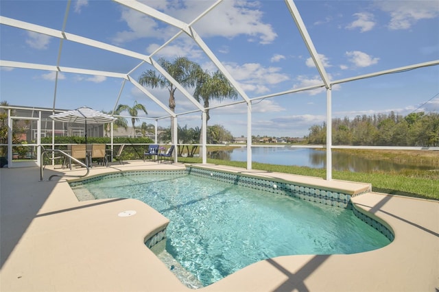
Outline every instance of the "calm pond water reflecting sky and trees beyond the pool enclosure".
<path id="1" fill-rule="evenodd" d="M 246 161 L 247 149 L 236 148 L 227 151 L 213 151 L 209 158 L 219 160 Z M 324 168 L 326 167 L 326 151 L 306 148 L 289 147 L 252 147 L 253 162 L 267 163 L 270 165 L 297 165 L 300 167 Z M 401 165 L 381 160 L 369 160 L 352 156 L 342 152 L 332 153 L 333 170 L 336 171 L 399 171 L 401 169 L 431 169 L 422 165 Z"/>

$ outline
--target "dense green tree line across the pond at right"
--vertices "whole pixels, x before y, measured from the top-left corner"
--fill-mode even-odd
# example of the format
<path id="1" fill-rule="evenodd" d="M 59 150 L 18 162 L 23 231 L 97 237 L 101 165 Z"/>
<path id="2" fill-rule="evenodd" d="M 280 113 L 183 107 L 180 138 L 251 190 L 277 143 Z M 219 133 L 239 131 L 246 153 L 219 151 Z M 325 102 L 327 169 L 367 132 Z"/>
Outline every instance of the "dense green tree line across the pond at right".
<path id="1" fill-rule="evenodd" d="M 306 137 L 310 144 L 324 144 L 327 125 L 313 125 Z M 439 146 L 439 114 L 412 112 L 361 115 L 332 120 L 333 145 L 359 146 Z"/>

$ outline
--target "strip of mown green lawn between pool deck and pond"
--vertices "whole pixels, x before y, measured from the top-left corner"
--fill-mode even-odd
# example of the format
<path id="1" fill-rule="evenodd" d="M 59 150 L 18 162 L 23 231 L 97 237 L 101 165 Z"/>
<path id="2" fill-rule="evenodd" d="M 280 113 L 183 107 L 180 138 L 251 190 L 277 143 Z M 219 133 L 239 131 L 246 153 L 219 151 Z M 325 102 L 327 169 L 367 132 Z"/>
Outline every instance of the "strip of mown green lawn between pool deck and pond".
<path id="1" fill-rule="evenodd" d="M 201 163 L 201 158 L 178 158 L 179 162 Z M 230 165 L 233 167 L 246 168 L 246 162 L 208 159 L 208 163 L 216 165 Z M 326 178 L 325 169 L 313 169 L 310 167 L 297 167 L 285 165 L 266 165 L 253 162 L 252 169 L 265 171 L 293 173 L 297 175 L 309 175 L 318 178 Z M 405 195 L 421 197 L 425 199 L 439 200 L 439 171 L 410 171 L 398 172 L 377 171 L 372 173 L 355 173 L 351 171 L 333 171 L 334 180 L 348 180 L 351 182 L 366 182 L 372 184 L 372 191 L 389 193 L 393 195 Z"/>

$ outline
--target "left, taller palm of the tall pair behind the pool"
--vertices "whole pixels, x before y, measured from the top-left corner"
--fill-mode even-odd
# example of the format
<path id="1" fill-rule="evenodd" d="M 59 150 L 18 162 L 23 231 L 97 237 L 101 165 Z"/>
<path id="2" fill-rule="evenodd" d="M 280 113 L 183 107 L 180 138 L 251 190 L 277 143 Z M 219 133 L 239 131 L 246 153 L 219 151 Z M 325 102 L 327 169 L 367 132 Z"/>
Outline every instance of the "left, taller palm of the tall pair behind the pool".
<path id="1" fill-rule="evenodd" d="M 169 62 L 165 58 L 158 59 L 158 64 L 163 67 L 181 86 L 191 87 L 195 85 L 193 72 L 198 71 L 199 65 L 191 62 L 185 57 L 178 57 L 174 62 Z M 154 70 L 148 70 L 139 77 L 139 84 L 150 86 L 151 88 L 167 88 L 169 90 L 169 109 L 175 112 L 176 100 L 174 93 L 176 87 L 169 82 L 163 75 Z M 171 141 L 174 143 L 174 118 L 171 119 Z"/>

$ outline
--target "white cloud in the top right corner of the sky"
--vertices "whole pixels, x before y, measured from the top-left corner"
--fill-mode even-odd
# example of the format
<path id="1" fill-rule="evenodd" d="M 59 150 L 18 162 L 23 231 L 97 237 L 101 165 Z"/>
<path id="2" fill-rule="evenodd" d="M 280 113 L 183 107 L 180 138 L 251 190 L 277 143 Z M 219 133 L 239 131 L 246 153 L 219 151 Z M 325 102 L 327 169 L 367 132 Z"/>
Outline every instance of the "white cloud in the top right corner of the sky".
<path id="1" fill-rule="evenodd" d="M 390 14 L 389 29 L 410 29 L 417 21 L 439 16 L 438 1 L 375 1 Z"/>

